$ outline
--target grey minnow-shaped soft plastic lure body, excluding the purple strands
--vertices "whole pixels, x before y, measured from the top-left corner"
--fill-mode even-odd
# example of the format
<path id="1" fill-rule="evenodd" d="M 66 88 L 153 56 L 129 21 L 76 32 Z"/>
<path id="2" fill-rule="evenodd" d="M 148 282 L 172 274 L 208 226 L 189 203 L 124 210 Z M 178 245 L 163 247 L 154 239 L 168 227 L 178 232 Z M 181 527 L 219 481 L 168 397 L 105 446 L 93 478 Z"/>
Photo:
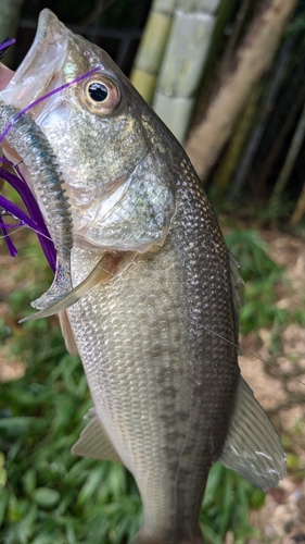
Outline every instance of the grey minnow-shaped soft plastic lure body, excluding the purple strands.
<path id="1" fill-rule="evenodd" d="M 69 203 L 63 189 L 63 177 L 53 150 L 35 121 L 13 106 L 0 102 L 0 141 L 5 139 L 27 166 L 37 187 L 47 215 L 52 218 L 51 235 L 58 254 L 54 282 L 50 289 L 35 301 L 36 308 L 46 308 L 72 289 L 69 257 L 73 247 L 73 221 Z M 52 198 L 50 198 L 52 195 Z M 2 197 L 2 208 L 14 212 Z M 24 217 L 20 217 L 25 221 Z"/>

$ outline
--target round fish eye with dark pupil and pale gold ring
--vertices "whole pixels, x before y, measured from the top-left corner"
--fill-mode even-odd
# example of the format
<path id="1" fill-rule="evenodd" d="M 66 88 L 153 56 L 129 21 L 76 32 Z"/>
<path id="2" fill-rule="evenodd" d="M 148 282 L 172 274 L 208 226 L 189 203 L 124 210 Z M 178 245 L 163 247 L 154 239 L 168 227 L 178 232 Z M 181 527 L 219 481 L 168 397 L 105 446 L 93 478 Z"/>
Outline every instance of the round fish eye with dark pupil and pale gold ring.
<path id="1" fill-rule="evenodd" d="M 80 101 L 96 114 L 111 113 L 120 100 L 117 85 L 104 75 L 89 77 L 80 88 Z"/>

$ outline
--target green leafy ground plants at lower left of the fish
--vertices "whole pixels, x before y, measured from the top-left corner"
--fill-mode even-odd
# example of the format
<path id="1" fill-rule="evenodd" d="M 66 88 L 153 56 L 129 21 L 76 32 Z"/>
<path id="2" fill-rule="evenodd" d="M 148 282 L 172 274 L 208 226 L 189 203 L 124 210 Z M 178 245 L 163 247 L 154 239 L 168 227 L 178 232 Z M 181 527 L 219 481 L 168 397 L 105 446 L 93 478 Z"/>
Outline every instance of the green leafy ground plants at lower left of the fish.
<path id="1" fill-rule="evenodd" d="M 1 387 L 0 540 L 127 542 L 141 517 L 134 480 L 120 466 L 71 454 L 91 405 L 86 378 L 58 326 L 41 334 L 37 325 L 15 344 L 27 354 L 26 374 Z"/>

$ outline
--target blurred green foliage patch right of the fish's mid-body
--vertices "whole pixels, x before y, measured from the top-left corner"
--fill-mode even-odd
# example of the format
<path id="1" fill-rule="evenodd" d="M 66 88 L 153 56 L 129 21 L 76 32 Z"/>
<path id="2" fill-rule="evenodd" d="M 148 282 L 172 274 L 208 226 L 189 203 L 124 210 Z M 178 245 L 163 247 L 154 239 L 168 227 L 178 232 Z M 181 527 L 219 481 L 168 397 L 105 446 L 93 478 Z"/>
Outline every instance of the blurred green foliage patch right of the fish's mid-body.
<path id="1" fill-rule="evenodd" d="M 281 325 L 287 310 L 277 306 L 277 286 L 285 282 L 284 271 L 268 255 L 268 246 L 256 231 L 236 230 L 226 236 L 230 251 L 241 263 L 244 305 L 240 309 L 242 334 L 262 327 Z"/>

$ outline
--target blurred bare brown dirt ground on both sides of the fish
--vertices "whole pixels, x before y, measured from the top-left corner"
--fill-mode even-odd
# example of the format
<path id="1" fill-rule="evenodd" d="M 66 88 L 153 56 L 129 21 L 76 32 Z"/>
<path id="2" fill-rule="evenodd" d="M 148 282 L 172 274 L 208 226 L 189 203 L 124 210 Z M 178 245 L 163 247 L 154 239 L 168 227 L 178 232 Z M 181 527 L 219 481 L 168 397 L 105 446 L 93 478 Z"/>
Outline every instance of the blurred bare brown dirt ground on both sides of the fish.
<path id="1" fill-rule="evenodd" d="M 278 306 L 302 309 L 305 300 L 305 243 L 278 231 L 260 232 L 260 235 L 269 246 L 270 257 L 287 269 L 289 283 L 278 288 Z M 10 311 L 5 295 L 16 287 L 14 275 L 18 267 L 18 259 L 8 257 L 7 248 L 0 244 L 0 319 L 11 330 L 18 325 L 8 322 Z M 267 493 L 263 508 L 251 512 L 259 536 L 246 544 L 305 544 L 305 329 L 289 324 L 281 331 L 280 356 L 270 358 L 270 343 L 271 332 L 268 330 L 241 337 L 240 364 L 243 376 L 282 435 L 289 475 Z M 256 354 L 258 358 L 250 354 Z M 0 382 L 17 379 L 24 370 L 23 361 L 12 360 L 5 346 L 0 347 Z M 227 535 L 226 544 L 233 544 L 232 535 Z"/>

